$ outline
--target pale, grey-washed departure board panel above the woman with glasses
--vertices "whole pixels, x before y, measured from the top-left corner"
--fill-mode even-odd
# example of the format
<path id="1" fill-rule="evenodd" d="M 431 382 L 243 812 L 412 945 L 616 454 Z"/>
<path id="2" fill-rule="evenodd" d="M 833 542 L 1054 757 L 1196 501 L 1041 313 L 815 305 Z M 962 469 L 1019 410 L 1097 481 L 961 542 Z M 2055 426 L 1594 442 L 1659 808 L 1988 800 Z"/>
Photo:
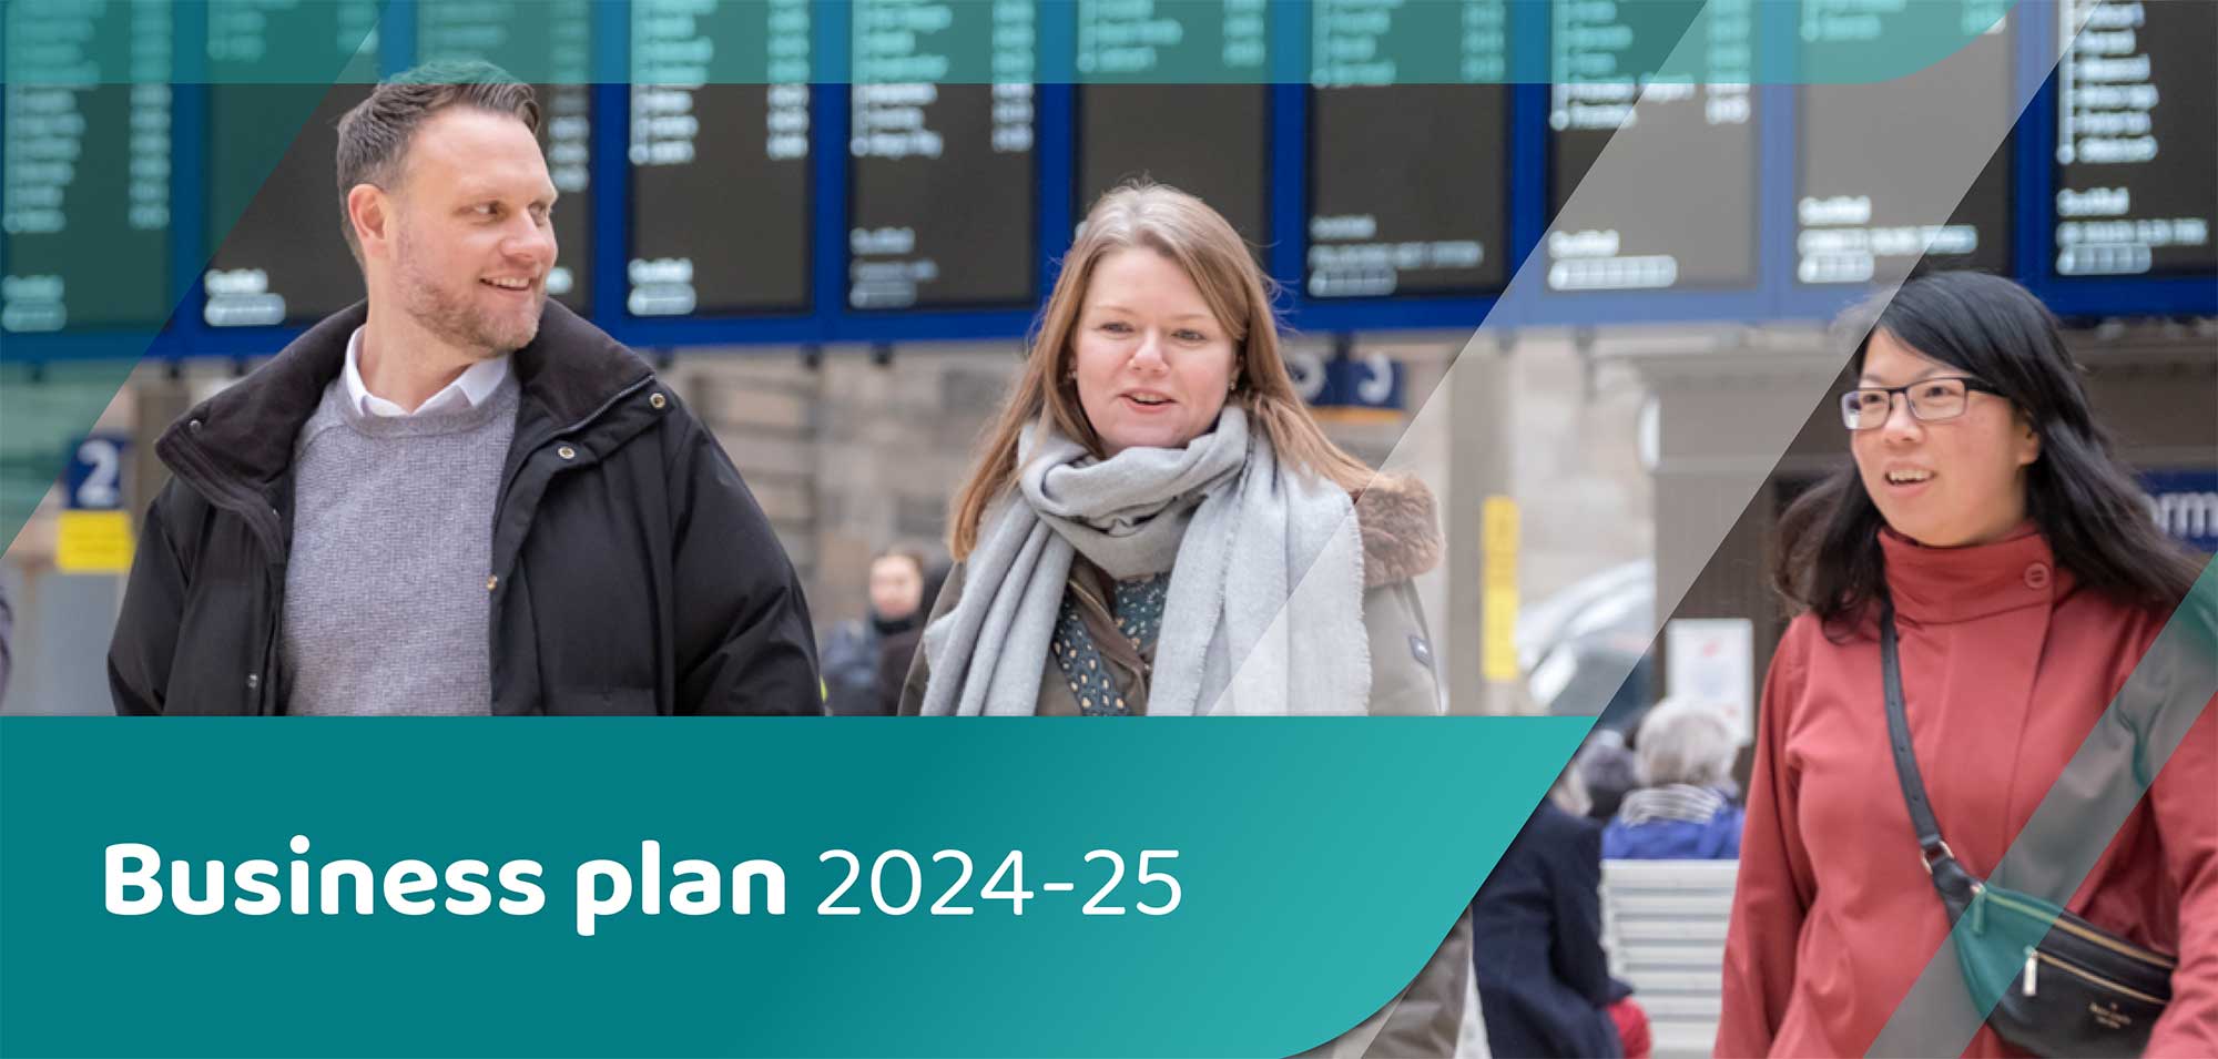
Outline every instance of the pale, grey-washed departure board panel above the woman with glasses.
<path id="1" fill-rule="evenodd" d="M 1954 55 L 1872 84 L 1797 89 L 1799 281 L 1901 279 L 1921 257 L 1943 268 L 2010 270 L 2007 131 L 2018 115 L 2010 7 L 1930 4 L 1925 13 L 1954 16 L 1947 29 L 1967 38 Z M 1805 0 L 1805 69 L 1883 66 L 1892 49 L 1888 18 L 1863 0 Z M 1983 142 L 2001 146 L 1970 157 Z"/>

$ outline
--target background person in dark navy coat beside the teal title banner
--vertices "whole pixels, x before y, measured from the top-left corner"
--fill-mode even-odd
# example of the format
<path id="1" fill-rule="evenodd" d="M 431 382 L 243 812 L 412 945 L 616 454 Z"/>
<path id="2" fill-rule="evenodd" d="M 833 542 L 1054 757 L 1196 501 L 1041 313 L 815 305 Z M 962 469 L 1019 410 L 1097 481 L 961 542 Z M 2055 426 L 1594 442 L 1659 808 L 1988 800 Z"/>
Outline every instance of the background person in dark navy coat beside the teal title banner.
<path id="1" fill-rule="evenodd" d="M 1648 1015 L 1601 948 L 1601 824 L 1564 769 L 1471 902 L 1495 1057 L 1646 1057 Z"/>

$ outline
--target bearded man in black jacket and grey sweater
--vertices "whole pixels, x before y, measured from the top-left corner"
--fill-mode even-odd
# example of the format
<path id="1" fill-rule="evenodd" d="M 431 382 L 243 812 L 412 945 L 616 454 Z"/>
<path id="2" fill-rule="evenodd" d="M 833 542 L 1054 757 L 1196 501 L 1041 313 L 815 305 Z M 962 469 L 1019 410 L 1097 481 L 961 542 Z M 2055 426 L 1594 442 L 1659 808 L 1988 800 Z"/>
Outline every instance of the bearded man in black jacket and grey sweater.
<path id="1" fill-rule="evenodd" d="M 716 441 L 546 299 L 528 86 L 339 122 L 368 299 L 193 408 L 109 649 L 118 713 L 821 713 L 807 605 Z"/>

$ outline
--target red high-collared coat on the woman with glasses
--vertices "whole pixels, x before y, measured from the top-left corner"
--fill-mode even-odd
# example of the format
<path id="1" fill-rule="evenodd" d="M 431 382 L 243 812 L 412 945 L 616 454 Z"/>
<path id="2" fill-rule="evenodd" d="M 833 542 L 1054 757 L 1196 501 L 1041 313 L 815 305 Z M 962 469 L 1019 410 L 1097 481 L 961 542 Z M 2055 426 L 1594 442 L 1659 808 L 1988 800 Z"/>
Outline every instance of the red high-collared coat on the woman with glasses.
<path id="1" fill-rule="evenodd" d="M 1961 549 L 1881 532 L 1881 545 L 1934 815 L 1987 875 L 2169 611 L 2076 587 L 2032 530 Z M 2218 707 L 2069 908 L 2178 953 L 2147 1055 L 2218 1057 Z M 1888 753 L 1876 625 L 1832 642 L 1803 614 L 1763 682 L 1717 1055 L 1865 1055 L 1947 928 Z M 2018 1052 L 1981 1026 L 1965 1055 Z"/>

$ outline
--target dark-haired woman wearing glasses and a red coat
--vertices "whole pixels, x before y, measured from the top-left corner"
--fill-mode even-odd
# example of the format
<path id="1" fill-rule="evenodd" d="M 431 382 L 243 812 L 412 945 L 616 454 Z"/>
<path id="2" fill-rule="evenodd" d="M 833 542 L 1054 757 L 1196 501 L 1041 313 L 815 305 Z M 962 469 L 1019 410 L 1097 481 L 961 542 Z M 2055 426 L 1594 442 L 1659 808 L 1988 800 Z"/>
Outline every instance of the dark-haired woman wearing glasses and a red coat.
<path id="1" fill-rule="evenodd" d="M 1905 284 L 1850 372 L 1852 459 L 1794 501 L 1774 552 L 1774 585 L 1801 614 L 1763 685 L 1721 1057 L 1865 1055 L 1936 955 L 1956 973 L 1896 782 L 1881 627 L 1899 638 L 1910 744 L 1945 835 L 1934 860 L 1987 877 L 2083 742 L 2098 744 L 2089 731 L 2200 572 L 2156 530 L 2056 319 L 2016 284 Z M 2218 709 L 2185 709 L 2178 724 L 2200 718 L 2154 778 L 2145 742 L 2074 764 L 2096 786 L 2147 782 L 2116 835 L 2069 837 L 2092 871 L 2067 902 L 2176 959 L 2147 1055 L 2218 1055 Z M 2025 959 L 2036 973 L 2010 990 L 2027 1001 L 2074 973 Z M 2018 1046 L 1983 1024 L 1965 1055 Z"/>

